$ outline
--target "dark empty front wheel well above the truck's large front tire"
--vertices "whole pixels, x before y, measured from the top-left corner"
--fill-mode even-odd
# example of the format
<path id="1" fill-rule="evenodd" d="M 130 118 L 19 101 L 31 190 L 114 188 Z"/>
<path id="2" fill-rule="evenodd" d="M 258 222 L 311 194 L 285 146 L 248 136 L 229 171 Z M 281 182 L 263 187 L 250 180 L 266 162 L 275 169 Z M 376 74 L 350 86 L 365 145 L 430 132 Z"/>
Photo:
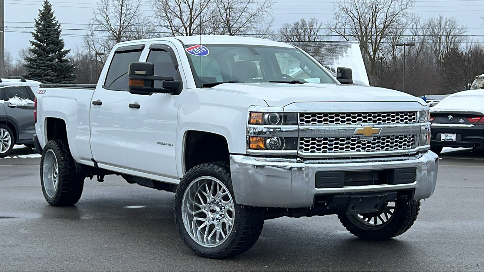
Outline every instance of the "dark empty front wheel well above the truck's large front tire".
<path id="1" fill-rule="evenodd" d="M 189 131 L 185 138 L 185 171 L 193 166 L 208 162 L 228 162 L 228 144 L 224 136 Z"/>

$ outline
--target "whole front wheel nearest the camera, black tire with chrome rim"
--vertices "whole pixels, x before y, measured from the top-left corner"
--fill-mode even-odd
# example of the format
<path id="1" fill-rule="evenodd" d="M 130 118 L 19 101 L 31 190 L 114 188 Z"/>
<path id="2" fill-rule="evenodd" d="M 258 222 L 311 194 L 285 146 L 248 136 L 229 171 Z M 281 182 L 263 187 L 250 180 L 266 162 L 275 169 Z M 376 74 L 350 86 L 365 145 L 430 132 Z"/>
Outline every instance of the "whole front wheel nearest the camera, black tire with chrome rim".
<path id="1" fill-rule="evenodd" d="M 250 249 L 264 225 L 261 208 L 235 202 L 226 163 L 190 169 L 175 193 L 175 224 L 188 247 L 202 257 L 225 258 Z"/>

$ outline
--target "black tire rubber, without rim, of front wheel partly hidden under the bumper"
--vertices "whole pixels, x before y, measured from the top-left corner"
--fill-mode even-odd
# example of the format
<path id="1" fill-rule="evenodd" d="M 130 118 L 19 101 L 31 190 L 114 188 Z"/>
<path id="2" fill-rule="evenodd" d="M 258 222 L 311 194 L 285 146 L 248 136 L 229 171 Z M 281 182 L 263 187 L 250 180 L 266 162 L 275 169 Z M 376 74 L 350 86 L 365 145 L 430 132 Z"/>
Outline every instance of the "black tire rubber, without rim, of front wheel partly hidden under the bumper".
<path id="1" fill-rule="evenodd" d="M 420 200 L 398 199 L 395 212 L 387 225 L 367 230 L 355 225 L 346 213 L 338 213 L 339 221 L 351 234 L 365 240 L 383 241 L 406 232 L 417 219 L 420 210 Z"/>

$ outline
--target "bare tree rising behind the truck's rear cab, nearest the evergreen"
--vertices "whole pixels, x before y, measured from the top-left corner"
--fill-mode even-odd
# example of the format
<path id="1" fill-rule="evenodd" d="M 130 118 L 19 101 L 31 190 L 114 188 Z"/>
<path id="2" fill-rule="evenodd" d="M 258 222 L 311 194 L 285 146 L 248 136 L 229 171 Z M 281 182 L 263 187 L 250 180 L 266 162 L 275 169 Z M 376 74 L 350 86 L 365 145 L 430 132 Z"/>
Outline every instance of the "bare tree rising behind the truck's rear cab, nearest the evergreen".
<path id="1" fill-rule="evenodd" d="M 115 44 L 156 36 L 141 0 L 99 0 L 88 26 L 85 44 L 90 51 L 106 52 Z"/>

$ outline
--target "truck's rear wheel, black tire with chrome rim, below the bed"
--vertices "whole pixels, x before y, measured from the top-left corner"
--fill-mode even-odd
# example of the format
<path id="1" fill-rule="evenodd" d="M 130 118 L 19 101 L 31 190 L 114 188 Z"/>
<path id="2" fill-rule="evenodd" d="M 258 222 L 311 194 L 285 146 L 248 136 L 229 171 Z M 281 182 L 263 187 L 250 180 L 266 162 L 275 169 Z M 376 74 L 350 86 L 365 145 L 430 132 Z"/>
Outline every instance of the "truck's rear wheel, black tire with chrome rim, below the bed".
<path id="1" fill-rule="evenodd" d="M 45 200 L 52 206 L 70 206 L 79 201 L 85 175 L 76 173 L 67 140 L 50 140 L 40 160 L 40 182 Z"/>

